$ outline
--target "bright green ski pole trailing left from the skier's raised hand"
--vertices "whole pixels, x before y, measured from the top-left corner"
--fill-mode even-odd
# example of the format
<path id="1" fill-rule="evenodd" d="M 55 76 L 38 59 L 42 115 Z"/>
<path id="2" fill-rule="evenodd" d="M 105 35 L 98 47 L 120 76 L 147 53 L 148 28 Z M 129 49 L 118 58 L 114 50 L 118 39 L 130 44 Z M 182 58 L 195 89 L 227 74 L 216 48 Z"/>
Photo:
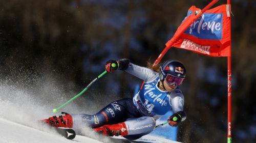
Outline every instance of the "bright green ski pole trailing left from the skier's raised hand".
<path id="1" fill-rule="evenodd" d="M 111 64 L 112 67 L 116 67 L 117 65 L 115 63 Z M 66 103 L 62 104 L 61 106 L 59 106 L 56 109 L 53 109 L 52 112 L 56 113 L 60 108 L 64 107 L 65 105 L 67 105 L 69 102 L 75 100 L 77 97 L 79 97 L 80 95 L 82 95 L 84 92 L 86 92 L 86 90 L 95 82 L 97 81 L 100 77 L 102 77 L 104 74 L 106 74 L 107 71 L 104 71 L 103 73 L 101 73 L 98 77 L 96 77 L 95 79 L 93 79 L 93 81 L 91 83 L 89 83 L 87 85 L 87 87 L 85 89 L 83 89 L 79 94 L 77 94 L 76 96 L 74 96 L 73 98 L 71 98 L 69 101 L 67 101 Z"/>

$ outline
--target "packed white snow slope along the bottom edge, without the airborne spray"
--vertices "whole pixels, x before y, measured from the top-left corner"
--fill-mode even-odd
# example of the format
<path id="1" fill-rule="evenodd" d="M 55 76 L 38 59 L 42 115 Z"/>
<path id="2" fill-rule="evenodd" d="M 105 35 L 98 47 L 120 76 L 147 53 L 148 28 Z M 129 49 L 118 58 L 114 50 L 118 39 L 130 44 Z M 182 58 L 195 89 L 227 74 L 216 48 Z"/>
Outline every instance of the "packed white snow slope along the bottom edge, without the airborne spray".
<path id="1" fill-rule="evenodd" d="M 114 140 L 108 137 L 101 136 L 97 139 L 93 139 L 87 136 L 76 135 L 73 140 L 66 139 L 62 137 L 57 132 L 44 129 L 44 131 L 34 129 L 28 126 L 24 126 L 6 119 L 0 118 L 0 142 L 1 143 L 49 143 L 49 142 L 90 142 L 90 143 L 101 143 L 101 142 L 130 142 L 125 140 L 123 137 L 117 137 L 118 140 Z M 132 142 L 169 142 L 175 143 L 176 141 L 171 141 L 168 139 L 146 135 L 141 139 L 134 140 Z"/>

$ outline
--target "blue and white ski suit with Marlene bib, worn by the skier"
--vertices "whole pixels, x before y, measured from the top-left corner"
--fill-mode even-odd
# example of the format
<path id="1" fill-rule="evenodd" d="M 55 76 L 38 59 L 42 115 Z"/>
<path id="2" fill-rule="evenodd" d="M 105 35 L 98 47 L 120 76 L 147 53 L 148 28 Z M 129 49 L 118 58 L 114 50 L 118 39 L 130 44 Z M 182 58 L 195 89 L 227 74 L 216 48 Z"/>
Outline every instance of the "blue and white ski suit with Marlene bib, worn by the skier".
<path id="1" fill-rule="evenodd" d="M 101 109 L 95 115 L 73 114 L 74 130 L 81 129 L 81 125 L 93 128 L 106 124 L 124 122 L 128 139 L 137 139 L 155 129 L 155 120 L 169 110 L 174 113 L 183 111 L 184 96 L 179 88 L 172 92 L 162 91 L 158 88 L 159 73 L 145 68 L 129 64 L 125 70 L 142 80 L 143 87 L 133 97 L 114 101 Z"/>

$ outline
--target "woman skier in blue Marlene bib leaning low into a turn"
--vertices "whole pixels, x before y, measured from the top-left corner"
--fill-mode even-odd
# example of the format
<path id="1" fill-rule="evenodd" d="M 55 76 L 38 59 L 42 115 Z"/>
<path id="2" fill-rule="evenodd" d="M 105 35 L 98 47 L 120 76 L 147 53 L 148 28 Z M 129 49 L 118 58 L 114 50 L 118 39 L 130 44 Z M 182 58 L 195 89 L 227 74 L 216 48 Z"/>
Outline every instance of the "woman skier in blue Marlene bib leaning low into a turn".
<path id="1" fill-rule="evenodd" d="M 168 119 L 170 126 L 177 126 L 186 119 L 183 111 L 184 97 L 179 89 L 186 75 L 181 62 L 165 61 L 159 73 L 134 65 L 128 59 L 110 60 L 105 65 L 107 72 L 117 69 L 144 80 L 133 99 L 114 101 L 94 115 L 61 112 L 65 116 L 54 116 L 41 122 L 55 127 L 73 128 L 76 132 L 82 132 L 84 126 L 89 126 L 103 135 L 138 139 L 152 132 L 156 126 L 155 121 L 169 110 L 174 112 Z"/>

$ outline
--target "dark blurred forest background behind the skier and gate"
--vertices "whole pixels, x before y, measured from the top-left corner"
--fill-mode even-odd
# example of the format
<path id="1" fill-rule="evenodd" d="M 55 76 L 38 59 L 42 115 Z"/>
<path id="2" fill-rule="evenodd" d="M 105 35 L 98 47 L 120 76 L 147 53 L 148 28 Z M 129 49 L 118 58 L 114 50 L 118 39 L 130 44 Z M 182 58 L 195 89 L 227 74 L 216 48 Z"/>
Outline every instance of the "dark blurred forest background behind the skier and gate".
<path id="1" fill-rule="evenodd" d="M 188 8 L 202 9 L 209 2 L 1 0 L 1 81 L 33 89 L 38 79 L 54 77 L 63 90 L 79 93 L 110 59 L 128 58 L 140 66 L 149 59 L 154 62 Z M 215 6 L 222 4 L 226 1 Z M 255 1 L 231 1 L 233 142 L 256 142 L 255 10 Z M 187 68 L 181 86 L 187 120 L 179 127 L 178 141 L 225 142 L 227 58 L 171 48 L 162 61 L 167 59 L 178 59 Z M 122 71 L 106 74 L 92 85 L 89 95 L 79 97 L 77 106 L 86 107 L 82 101 L 90 96 L 95 98 L 90 105 L 95 108 L 106 101 L 131 98 L 135 85 L 141 83 Z"/>

